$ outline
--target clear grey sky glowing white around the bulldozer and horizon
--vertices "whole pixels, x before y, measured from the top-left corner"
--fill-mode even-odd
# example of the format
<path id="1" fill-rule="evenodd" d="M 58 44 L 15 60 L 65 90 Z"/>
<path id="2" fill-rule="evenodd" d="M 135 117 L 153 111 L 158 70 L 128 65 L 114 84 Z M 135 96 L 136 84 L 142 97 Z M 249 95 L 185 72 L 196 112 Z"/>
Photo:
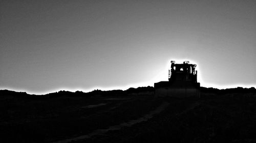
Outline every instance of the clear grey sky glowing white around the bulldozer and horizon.
<path id="1" fill-rule="evenodd" d="M 0 2 L 0 89 L 127 89 L 198 65 L 204 87 L 255 87 L 256 1 Z"/>

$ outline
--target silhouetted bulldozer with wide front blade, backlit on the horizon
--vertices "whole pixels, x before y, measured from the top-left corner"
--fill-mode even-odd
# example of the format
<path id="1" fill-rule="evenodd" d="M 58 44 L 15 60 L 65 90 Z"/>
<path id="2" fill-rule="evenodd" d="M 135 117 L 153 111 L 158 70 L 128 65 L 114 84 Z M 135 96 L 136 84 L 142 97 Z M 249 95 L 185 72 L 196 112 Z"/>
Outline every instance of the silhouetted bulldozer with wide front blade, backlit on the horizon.
<path id="1" fill-rule="evenodd" d="M 200 83 L 197 82 L 197 65 L 175 64 L 170 61 L 171 66 L 168 70 L 168 81 L 154 83 L 155 97 L 197 97 L 200 98 Z"/>

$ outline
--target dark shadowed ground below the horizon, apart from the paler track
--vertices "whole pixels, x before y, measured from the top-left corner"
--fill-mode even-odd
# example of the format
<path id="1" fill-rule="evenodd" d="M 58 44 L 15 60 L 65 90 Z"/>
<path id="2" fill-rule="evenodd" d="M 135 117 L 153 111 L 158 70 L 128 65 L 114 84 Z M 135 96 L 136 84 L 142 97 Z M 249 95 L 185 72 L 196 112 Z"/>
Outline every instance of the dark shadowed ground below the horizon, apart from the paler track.
<path id="1" fill-rule="evenodd" d="M 0 142 L 74 138 L 139 119 L 164 102 L 169 105 L 147 121 L 72 142 L 256 142 L 255 92 L 202 91 L 200 99 L 65 92 L 35 98 L 1 91 Z"/>

